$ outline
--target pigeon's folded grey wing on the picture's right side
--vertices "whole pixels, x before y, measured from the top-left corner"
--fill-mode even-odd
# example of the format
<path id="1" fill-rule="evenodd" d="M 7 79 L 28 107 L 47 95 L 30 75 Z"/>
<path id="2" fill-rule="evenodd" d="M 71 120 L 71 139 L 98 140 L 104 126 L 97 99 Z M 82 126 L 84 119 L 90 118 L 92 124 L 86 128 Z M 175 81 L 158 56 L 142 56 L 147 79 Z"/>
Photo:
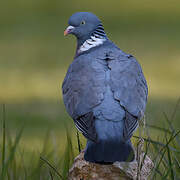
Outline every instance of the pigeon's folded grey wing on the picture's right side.
<path id="1" fill-rule="evenodd" d="M 126 111 L 124 137 L 128 139 L 144 115 L 148 88 L 141 66 L 130 55 L 120 55 L 109 62 L 114 98 Z"/>

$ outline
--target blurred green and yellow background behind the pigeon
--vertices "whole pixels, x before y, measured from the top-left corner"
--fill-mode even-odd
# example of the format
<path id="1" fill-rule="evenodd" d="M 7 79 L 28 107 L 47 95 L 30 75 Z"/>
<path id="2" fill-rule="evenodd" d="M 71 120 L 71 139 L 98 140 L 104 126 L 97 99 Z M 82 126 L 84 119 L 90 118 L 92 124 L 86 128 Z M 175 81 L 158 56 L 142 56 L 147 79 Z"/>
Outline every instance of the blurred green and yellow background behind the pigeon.
<path id="1" fill-rule="evenodd" d="M 1 0 L 0 103 L 11 133 L 25 125 L 20 145 L 27 151 L 40 151 L 48 130 L 61 144 L 64 124 L 73 126 L 61 84 L 76 46 L 63 31 L 77 11 L 95 13 L 108 37 L 142 65 L 148 124 L 166 127 L 163 112 L 171 116 L 180 97 L 180 1 Z"/>

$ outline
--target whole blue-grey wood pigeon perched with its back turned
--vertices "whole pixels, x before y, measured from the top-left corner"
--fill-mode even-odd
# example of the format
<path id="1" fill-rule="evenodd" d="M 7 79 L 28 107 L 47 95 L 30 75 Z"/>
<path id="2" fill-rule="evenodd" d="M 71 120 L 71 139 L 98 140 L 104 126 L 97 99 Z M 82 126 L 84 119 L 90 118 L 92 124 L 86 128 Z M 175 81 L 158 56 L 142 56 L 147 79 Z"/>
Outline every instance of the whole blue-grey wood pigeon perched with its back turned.
<path id="1" fill-rule="evenodd" d="M 99 164 L 134 161 L 131 137 L 148 98 L 140 64 L 109 40 L 91 12 L 74 13 L 64 31 L 69 34 L 77 46 L 62 95 L 66 111 L 87 139 L 84 159 Z"/>

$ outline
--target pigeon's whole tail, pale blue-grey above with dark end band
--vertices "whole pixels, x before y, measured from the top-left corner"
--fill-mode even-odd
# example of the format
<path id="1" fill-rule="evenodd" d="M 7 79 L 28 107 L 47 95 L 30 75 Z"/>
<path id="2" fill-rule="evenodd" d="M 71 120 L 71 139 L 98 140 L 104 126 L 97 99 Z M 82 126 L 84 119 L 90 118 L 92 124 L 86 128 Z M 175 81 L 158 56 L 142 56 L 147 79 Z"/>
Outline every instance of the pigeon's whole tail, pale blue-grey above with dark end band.
<path id="1" fill-rule="evenodd" d="M 124 120 L 96 120 L 98 142 L 88 140 L 84 154 L 85 160 L 95 163 L 133 161 L 134 150 L 131 140 L 123 138 Z"/>

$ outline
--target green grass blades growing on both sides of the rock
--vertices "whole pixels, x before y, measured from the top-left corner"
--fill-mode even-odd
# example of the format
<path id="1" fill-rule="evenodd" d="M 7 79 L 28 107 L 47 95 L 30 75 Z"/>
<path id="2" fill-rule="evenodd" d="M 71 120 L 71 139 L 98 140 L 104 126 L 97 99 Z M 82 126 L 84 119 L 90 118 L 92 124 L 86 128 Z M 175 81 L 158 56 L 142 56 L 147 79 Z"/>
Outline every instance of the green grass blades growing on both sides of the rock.
<path id="1" fill-rule="evenodd" d="M 144 126 L 139 128 L 132 138 L 135 147 L 139 139 L 144 141 L 145 156 L 150 156 L 155 165 L 150 179 L 180 178 L 180 130 L 172 123 L 178 113 L 179 103 L 180 101 L 170 114 L 171 118 L 164 113 L 162 120 L 166 129 L 154 124 L 149 125 L 147 122 L 145 128 Z M 71 125 L 64 124 L 63 135 L 52 135 L 51 131 L 55 129 L 46 131 L 42 147 L 39 147 L 39 150 L 35 147 L 34 151 L 28 150 L 21 144 L 26 134 L 26 126 L 22 123 L 22 128 L 12 135 L 7 127 L 8 113 L 5 105 L 2 109 L 3 141 L 0 146 L 2 154 L 0 179 L 66 179 L 74 157 L 85 146 L 82 135 L 79 137 Z M 156 133 L 161 136 L 156 136 Z M 28 143 L 28 146 L 32 145 L 34 144 Z M 142 163 L 139 164 L 140 167 Z"/>

